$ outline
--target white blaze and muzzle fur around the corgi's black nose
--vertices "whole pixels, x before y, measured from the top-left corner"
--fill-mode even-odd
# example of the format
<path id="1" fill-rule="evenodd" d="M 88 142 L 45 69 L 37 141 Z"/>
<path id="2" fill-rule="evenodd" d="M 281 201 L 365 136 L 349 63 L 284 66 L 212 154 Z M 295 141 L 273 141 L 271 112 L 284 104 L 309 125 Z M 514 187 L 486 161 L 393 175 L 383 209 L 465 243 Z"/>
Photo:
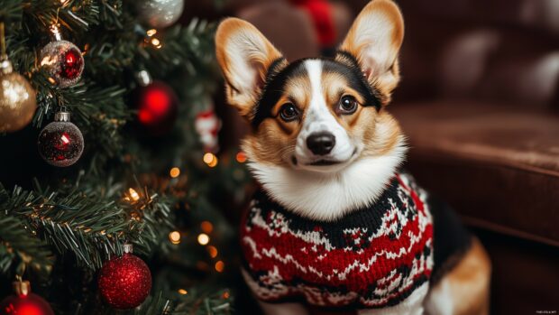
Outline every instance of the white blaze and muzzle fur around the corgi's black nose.
<path id="1" fill-rule="evenodd" d="M 361 152 L 358 152 L 358 145 L 353 142 L 345 128 L 337 122 L 329 109 L 323 93 L 322 61 L 307 60 L 304 65 L 311 86 L 310 102 L 297 136 L 294 152 L 296 160 L 291 159 L 290 165 L 296 169 L 307 171 L 339 171 L 352 162 Z M 326 155 L 316 155 L 307 147 L 308 136 L 324 132 L 334 135 L 334 148 Z M 335 163 L 332 165 L 312 165 L 313 162 L 320 160 Z M 297 161 L 297 163 L 293 163 L 293 161 Z"/>

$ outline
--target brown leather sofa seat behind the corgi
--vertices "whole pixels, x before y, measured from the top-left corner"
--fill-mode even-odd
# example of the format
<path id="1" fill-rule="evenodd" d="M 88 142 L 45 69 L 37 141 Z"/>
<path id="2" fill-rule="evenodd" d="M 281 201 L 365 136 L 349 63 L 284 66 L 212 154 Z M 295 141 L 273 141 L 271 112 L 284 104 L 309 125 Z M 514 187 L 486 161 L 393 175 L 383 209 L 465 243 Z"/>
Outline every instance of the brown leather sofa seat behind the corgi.
<path id="1" fill-rule="evenodd" d="M 474 226 L 559 246 L 559 116 L 466 101 L 389 107 L 420 184 Z"/>

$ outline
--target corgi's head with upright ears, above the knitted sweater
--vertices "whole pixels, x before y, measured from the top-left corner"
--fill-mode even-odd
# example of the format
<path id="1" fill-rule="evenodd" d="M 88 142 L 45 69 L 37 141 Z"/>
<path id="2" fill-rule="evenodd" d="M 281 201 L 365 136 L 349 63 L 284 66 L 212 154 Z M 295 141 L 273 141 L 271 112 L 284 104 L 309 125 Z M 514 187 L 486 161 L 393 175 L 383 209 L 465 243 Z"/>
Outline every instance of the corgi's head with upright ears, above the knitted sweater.
<path id="1" fill-rule="evenodd" d="M 299 208 L 295 203 L 301 200 L 277 186 L 354 181 L 353 175 L 359 175 L 354 164 L 382 169 L 390 157 L 398 160 L 389 171 L 393 173 L 401 161 L 402 135 L 385 107 L 399 81 L 403 34 L 398 6 L 373 0 L 334 59 L 289 63 L 251 23 L 229 18 L 219 25 L 216 56 L 225 75 L 227 101 L 252 125 L 243 151 L 257 178 L 284 205 Z M 362 174 L 378 175 L 363 167 Z M 383 185 L 387 176 L 382 176 Z M 347 186 L 339 189 L 353 190 Z M 348 193 L 351 198 L 351 192 L 344 197 Z M 363 202 L 371 201 L 367 199 Z"/>

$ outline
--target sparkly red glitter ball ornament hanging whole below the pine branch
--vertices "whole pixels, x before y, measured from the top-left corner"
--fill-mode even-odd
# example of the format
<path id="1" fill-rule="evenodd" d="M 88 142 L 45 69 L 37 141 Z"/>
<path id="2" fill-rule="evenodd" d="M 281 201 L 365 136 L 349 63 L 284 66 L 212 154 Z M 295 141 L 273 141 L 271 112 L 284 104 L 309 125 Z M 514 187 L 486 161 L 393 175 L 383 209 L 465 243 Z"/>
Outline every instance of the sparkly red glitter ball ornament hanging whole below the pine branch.
<path id="1" fill-rule="evenodd" d="M 124 255 L 109 260 L 99 273 L 99 292 L 112 308 L 133 309 L 151 290 L 150 268 L 135 255 L 132 245 L 124 245 Z"/>

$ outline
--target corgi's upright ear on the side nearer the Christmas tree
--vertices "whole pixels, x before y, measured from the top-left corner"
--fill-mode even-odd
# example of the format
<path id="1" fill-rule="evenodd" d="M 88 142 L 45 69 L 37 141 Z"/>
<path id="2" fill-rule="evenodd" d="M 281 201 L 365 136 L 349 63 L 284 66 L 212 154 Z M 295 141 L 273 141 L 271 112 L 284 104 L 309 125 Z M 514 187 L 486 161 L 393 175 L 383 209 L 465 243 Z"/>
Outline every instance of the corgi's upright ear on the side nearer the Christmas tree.
<path id="1" fill-rule="evenodd" d="M 280 51 L 254 25 L 232 17 L 217 28 L 215 55 L 225 76 L 227 102 L 237 107 L 242 116 L 252 119 L 252 108 L 270 65 L 282 57 Z"/>

